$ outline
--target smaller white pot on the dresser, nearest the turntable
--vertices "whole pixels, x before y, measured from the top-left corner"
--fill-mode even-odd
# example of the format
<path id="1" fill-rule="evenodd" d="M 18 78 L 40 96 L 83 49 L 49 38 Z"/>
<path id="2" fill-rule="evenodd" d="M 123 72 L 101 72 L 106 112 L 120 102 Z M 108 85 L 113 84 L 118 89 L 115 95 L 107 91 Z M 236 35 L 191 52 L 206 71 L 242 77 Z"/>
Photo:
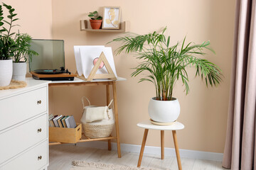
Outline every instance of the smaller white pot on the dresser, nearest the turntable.
<path id="1" fill-rule="evenodd" d="M 26 79 L 26 62 L 14 62 L 13 63 L 13 77 L 12 79 L 18 81 L 25 81 Z"/>

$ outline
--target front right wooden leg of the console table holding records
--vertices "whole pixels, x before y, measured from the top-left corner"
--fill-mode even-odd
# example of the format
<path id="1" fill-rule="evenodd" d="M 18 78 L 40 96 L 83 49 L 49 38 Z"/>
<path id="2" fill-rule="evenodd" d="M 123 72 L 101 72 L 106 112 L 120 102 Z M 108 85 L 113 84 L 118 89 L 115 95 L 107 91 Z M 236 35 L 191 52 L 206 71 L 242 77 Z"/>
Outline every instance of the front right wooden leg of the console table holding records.
<path id="1" fill-rule="evenodd" d="M 116 84 L 113 81 L 112 84 L 113 88 L 113 98 L 114 98 L 114 118 L 115 118 L 115 128 L 116 128 L 116 134 L 117 134 L 117 153 L 118 157 L 121 157 L 121 148 L 120 148 L 120 138 L 119 138 L 119 123 L 118 123 L 118 111 L 117 111 L 117 89 L 116 89 Z"/>

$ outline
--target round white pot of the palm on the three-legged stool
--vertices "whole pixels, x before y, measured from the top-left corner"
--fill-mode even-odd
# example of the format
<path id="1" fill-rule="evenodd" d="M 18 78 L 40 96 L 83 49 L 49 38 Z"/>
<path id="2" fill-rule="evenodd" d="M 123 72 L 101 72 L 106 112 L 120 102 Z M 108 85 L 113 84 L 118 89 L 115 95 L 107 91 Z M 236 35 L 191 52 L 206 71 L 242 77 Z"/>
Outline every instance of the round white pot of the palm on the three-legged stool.
<path id="1" fill-rule="evenodd" d="M 171 123 L 177 120 L 181 107 L 177 98 L 172 101 L 157 101 L 151 98 L 149 101 L 149 117 L 159 123 Z"/>

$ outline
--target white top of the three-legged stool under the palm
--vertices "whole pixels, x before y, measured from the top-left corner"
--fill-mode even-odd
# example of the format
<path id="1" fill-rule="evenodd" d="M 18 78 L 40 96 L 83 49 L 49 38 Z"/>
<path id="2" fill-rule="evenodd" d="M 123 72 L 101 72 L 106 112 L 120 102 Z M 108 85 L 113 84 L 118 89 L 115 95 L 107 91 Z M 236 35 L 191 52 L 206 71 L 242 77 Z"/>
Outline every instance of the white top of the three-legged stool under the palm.
<path id="1" fill-rule="evenodd" d="M 176 122 L 173 125 L 153 125 L 150 120 L 145 120 L 137 124 L 139 128 L 152 129 L 152 130 L 182 130 L 185 126 L 182 123 Z"/>

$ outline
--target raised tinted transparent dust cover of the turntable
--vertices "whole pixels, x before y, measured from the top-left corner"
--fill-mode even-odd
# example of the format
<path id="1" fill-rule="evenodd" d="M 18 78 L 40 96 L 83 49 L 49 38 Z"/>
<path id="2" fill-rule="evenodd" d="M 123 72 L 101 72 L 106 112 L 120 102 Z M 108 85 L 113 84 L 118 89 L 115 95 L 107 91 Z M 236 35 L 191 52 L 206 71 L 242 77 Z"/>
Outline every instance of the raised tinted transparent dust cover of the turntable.
<path id="1" fill-rule="evenodd" d="M 30 72 L 36 69 L 65 69 L 64 40 L 33 39 L 30 45 L 29 48 L 39 54 L 29 61 Z"/>

